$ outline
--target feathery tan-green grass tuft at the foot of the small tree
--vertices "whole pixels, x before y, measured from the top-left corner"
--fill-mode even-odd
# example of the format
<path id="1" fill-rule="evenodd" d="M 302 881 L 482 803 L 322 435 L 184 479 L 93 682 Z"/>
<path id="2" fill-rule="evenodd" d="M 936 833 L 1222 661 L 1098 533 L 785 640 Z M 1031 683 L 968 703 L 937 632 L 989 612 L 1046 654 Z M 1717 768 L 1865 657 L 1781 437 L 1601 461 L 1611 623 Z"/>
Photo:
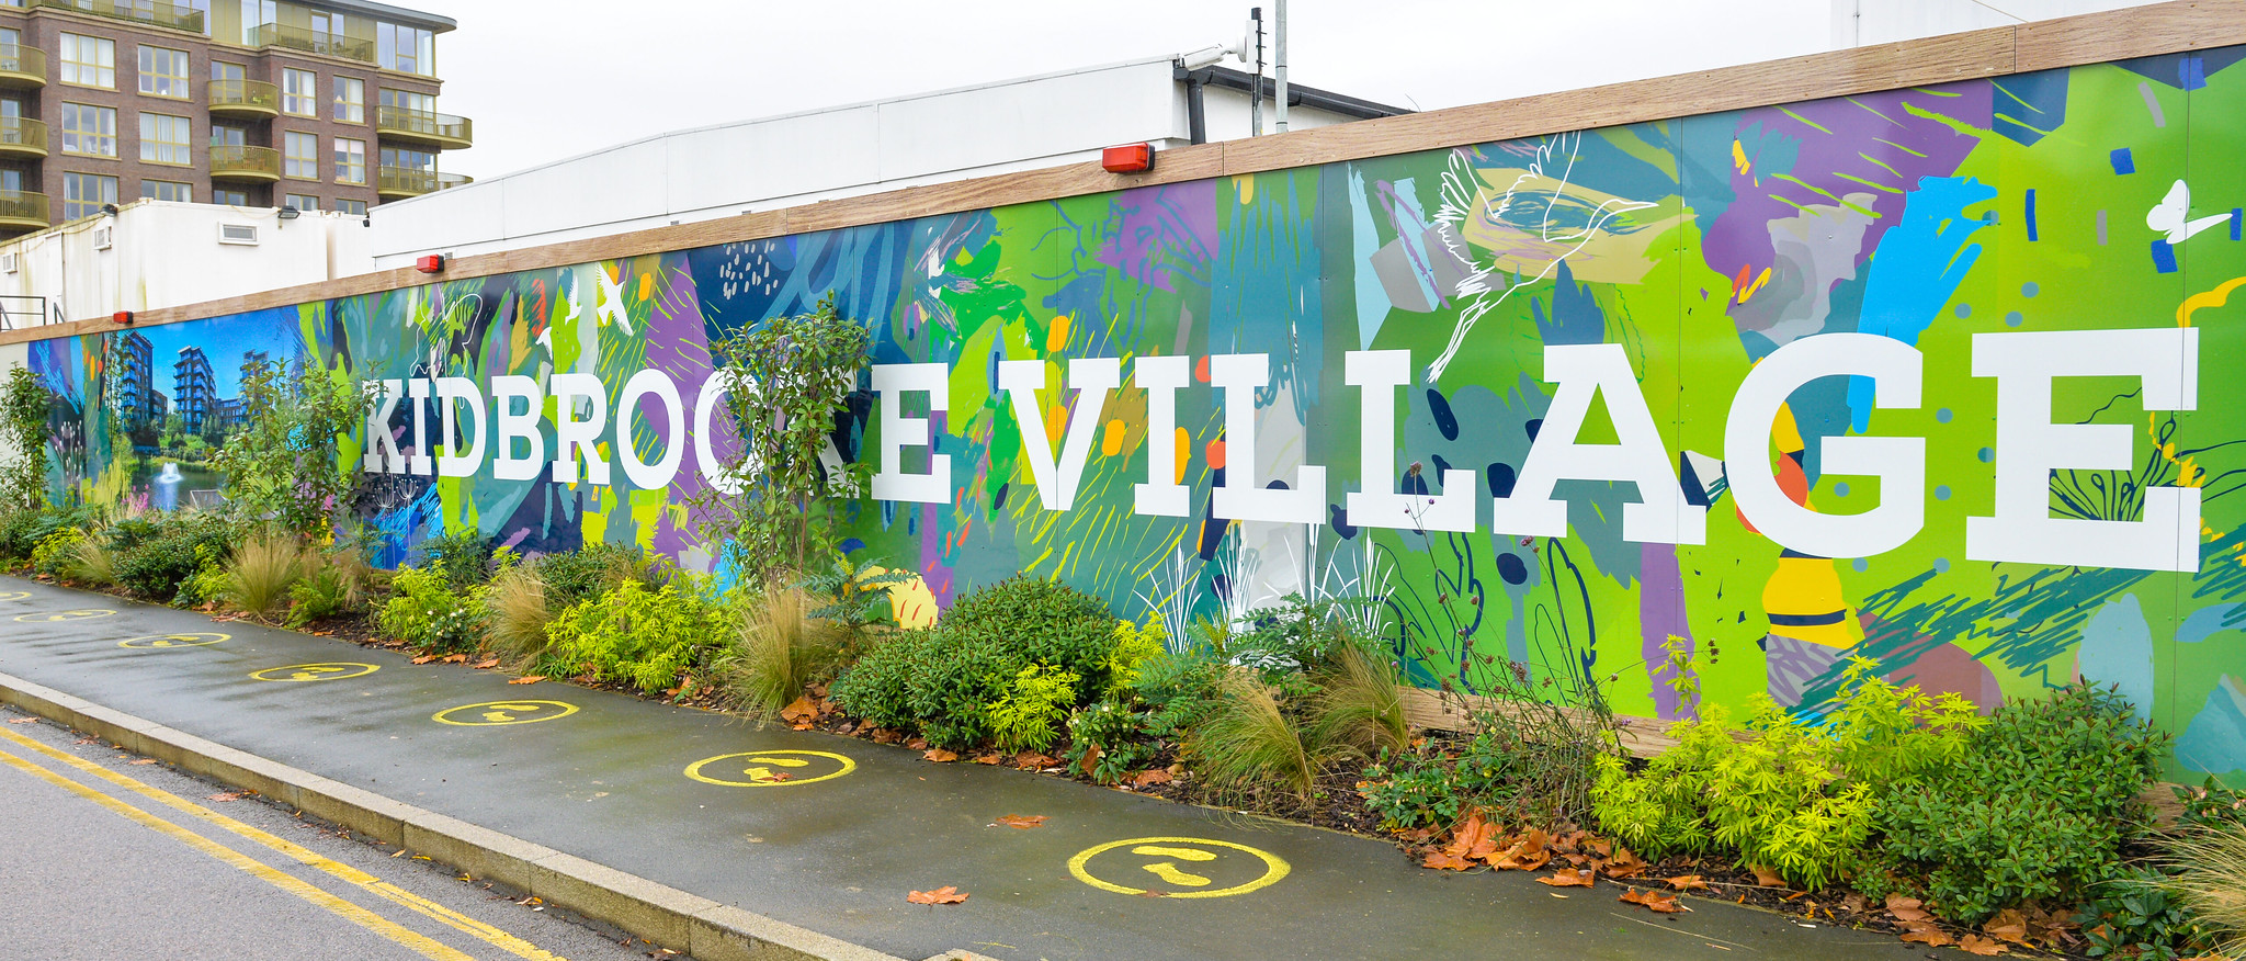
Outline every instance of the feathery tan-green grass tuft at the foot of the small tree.
<path id="1" fill-rule="evenodd" d="M 710 674 L 739 710 L 770 721 L 844 658 L 849 631 L 813 615 L 800 588 L 766 588 Z"/>

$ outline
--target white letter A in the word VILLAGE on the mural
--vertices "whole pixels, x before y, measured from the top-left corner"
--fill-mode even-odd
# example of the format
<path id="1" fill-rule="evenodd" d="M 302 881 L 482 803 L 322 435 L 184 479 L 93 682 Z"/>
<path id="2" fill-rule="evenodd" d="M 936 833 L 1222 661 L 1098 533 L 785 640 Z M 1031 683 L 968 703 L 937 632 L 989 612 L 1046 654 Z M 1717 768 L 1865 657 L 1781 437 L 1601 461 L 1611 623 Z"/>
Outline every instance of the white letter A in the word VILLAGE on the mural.
<path id="1" fill-rule="evenodd" d="M 1521 465 L 1512 496 L 1491 503 L 1496 534 L 1568 537 L 1568 503 L 1552 501 L 1561 481 L 1626 481 L 1637 503 L 1622 505 L 1622 539 L 1637 543 L 1705 543 L 1707 507 L 1684 501 L 1653 413 L 1637 391 L 1622 344 L 1547 344 L 1545 382 L 1559 384 L 1543 429 Z M 1592 397 L 1606 397 L 1619 445 L 1579 445 Z"/>

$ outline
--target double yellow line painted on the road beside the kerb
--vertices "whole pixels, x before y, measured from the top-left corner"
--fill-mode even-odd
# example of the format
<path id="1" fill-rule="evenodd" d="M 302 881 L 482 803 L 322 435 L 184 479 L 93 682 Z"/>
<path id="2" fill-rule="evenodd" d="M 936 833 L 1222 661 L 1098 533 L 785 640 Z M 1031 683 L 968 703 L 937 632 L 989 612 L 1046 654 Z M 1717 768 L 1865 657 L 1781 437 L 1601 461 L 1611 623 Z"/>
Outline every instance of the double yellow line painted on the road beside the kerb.
<path id="1" fill-rule="evenodd" d="M 310 849 L 305 849 L 301 844 L 292 844 L 287 840 L 274 838 L 274 835 L 270 835 L 265 831 L 258 831 L 258 829 L 254 829 L 249 824 L 236 822 L 234 817 L 220 815 L 220 813 L 216 813 L 211 808 L 204 808 L 202 804 L 189 802 L 189 799 L 184 799 L 180 795 L 173 795 L 168 790 L 153 788 L 153 786 L 135 781 L 135 779 L 130 779 L 126 775 L 108 770 L 108 768 L 103 768 L 99 763 L 85 761 L 81 757 L 65 754 L 65 752 L 54 750 L 54 748 L 47 748 L 47 745 L 43 745 L 38 741 L 31 741 L 31 739 L 22 736 L 22 734 L 16 734 L 11 730 L 0 730 L 0 739 L 7 739 L 11 743 L 16 743 L 18 748 L 45 754 L 45 757 L 56 759 L 61 763 L 67 763 L 72 768 L 79 768 L 79 770 L 83 770 L 88 775 L 94 775 L 94 777 L 99 777 L 103 781 L 110 781 L 110 784 L 115 784 L 119 788 L 133 790 L 135 795 L 148 797 L 148 799 L 153 799 L 157 804 L 164 804 L 168 808 L 175 808 L 175 811 L 182 811 L 186 815 L 193 815 L 193 817 L 202 820 L 204 824 L 234 831 L 240 838 L 254 840 L 254 842 L 265 844 L 265 846 L 270 846 L 270 849 L 274 849 L 274 851 L 279 851 L 279 853 L 283 853 L 283 855 L 287 855 L 287 858 L 292 858 L 296 862 L 301 862 L 301 864 L 308 864 L 308 867 L 321 869 L 321 871 L 326 871 L 326 873 L 330 873 L 335 878 L 348 880 L 348 882 L 357 885 L 359 889 L 366 889 L 366 891 L 377 894 L 377 896 L 382 896 L 382 898 L 386 898 L 391 903 L 398 903 L 398 905 L 409 907 L 409 909 L 413 909 L 418 914 L 424 914 L 424 916 L 429 916 L 429 918 L 433 918 L 438 923 L 445 923 L 447 927 L 454 927 L 454 930 L 465 932 L 465 934 L 474 934 L 476 939 L 483 939 L 485 943 L 490 943 L 494 948 L 501 948 L 501 950 L 505 950 L 505 952 L 510 952 L 514 957 L 521 957 L 526 961 L 562 961 L 559 957 L 539 950 L 530 941 L 523 941 L 523 939 L 519 939 L 514 934 L 508 934 L 508 932 L 503 932 L 499 927 L 485 925 L 483 921 L 469 918 L 469 916 L 465 916 L 460 912 L 454 912 L 454 909 L 449 909 L 445 905 L 438 905 L 438 903 L 433 903 L 429 898 L 411 894 L 411 891 L 407 891 L 407 889 L 402 889 L 398 885 L 391 885 L 391 882 L 386 882 L 382 878 L 375 878 L 375 876 L 371 876 L 366 871 L 359 871 L 359 869 L 355 869 L 350 864 L 341 864 L 341 862 L 321 858 L 319 853 L 312 853 Z M 173 840 L 177 840 L 177 842 L 195 849 L 195 851 L 202 851 L 202 853 L 207 853 L 211 858 L 218 858 L 218 860 L 231 864 L 231 867 L 238 867 L 238 869 L 256 876 L 258 880 L 265 880 L 267 885 L 274 885 L 274 887 L 279 887 L 279 889 L 283 889 L 287 894 L 294 894 L 294 896 L 299 896 L 303 900 L 310 900 L 310 903 L 314 903 L 319 907 L 326 907 L 328 912 L 335 912 L 341 918 L 346 918 L 346 921 L 350 921 L 350 923 L 355 923 L 359 927 L 366 927 L 366 930 L 371 930 L 375 934 L 382 934 L 384 939 L 391 939 L 391 941 L 395 941 L 395 943 L 400 943 L 400 945 L 418 952 L 420 957 L 427 957 L 427 959 L 433 959 L 433 961 L 474 961 L 469 954 L 451 950 L 451 948 L 447 948 L 445 943 L 440 943 L 436 939 L 418 934 L 418 932 L 413 932 L 413 930 L 409 930 L 409 927 L 404 927 L 404 925 L 400 925 L 395 921 L 389 921 L 389 918 L 384 918 L 384 916 L 380 916 L 375 912 L 368 912 L 368 909 L 364 909 L 359 905 L 353 905 L 353 903 L 348 903 L 344 898 L 337 898 L 337 896 L 332 896 L 328 891 L 321 891 L 319 887 L 312 887 L 310 882 L 305 882 L 305 880 L 301 880 L 301 878 L 296 878 L 296 876 L 292 876 L 287 871 L 281 871 L 281 869 L 276 869 L 272 864 L 263 864 L 263 862 L 258 862 L 258 860 L 254 860 L 254 858 L 249 858 L 249 855 L 245 855 L 240 851 L 234 851 L 234 849 L 229 849 L 225 844 L 218 844 L 218 842 L 213 842 L 213 840 L 209 840 L 209 838 L 204 838 L 200 833 L 182 829 L 182 826 L 177 826 L 173 822 L 166 822 L 166 820 L 162 820 L 162 817 L 157 817 L 157 815 L 153 815 L 148 811 L 135 808 L 133 804 L 126 804 L 126 802 L 121 802 L 117 797 L 110 797 L 110 795 L 106 795 L 101 790 L 94 790 L 92 786 L 85 786 L 85 784 L 79 784 L 79 781 L 70 779 L 70 777 L 56 775 L 56 772 L 52 772 L 52 770 L 34 763 L 34 761 L 25 759 L 25 757 L 18 757 L 13 752 L 0 750 L 0 763 L 9 763 L 9 766 L 13 766 L 13 768 L 18 768 L 18 770 L 22 770 L 27 775 L 34 775 L 34 777 L 45 779 L 45 781 L 49 781 L 49 784 L 54 784 L 58 788 L 65 788 L 65 790 L 70 790 L 70 793 L 74 793 L 79 797 L 85 797 L 85 799 L 90 799 L 94 804 L 101 804 L 103 808 L 110 808 L 112 813 L 117 813 L 121 817 L 128 817 L 128 820 L 146 826 L 150 831 L 157 831 L 157 833 L 162 833 L 166 838 L 173 838 Z"/>

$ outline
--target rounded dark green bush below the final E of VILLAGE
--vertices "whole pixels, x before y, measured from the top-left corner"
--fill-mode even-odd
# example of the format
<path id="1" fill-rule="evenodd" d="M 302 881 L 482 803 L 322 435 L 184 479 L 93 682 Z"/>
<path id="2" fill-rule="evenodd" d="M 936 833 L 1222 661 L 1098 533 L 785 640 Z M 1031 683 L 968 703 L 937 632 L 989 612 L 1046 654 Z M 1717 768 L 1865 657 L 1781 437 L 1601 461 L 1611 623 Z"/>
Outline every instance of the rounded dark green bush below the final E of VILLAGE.
<path id="1" fill-rule="evenodd" d="M 2167 734 L 2113 692 L 2071 685 L 2003 705 L 1956 763 L 1900 781 L 1880 806 L 1880 860 L 1925 876 L 1950 918 L 1981 923 L 2035 898 L 2080 898 L 2120 871 L 2149 824 L 2138 795 Z"/>

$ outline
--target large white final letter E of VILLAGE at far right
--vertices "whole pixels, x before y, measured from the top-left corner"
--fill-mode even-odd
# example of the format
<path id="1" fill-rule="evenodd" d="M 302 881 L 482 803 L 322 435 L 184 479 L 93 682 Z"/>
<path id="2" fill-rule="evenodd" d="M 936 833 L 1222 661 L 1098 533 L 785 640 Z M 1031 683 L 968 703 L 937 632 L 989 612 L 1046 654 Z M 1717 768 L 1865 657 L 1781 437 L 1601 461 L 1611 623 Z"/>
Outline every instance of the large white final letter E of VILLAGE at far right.
<path id="1" fill-rule="evenodd" d="M 2199 570 L 2199 487 L 2147 487 L 2143 521 L 2051 516 L 2053 469 L 2127 472 L 2134 427 L 2053 424 L 2053 377 L 2138 377 L 2147 411 L 2199 406 L 2199 328 L 1972 335 L 1997 377 L 1997 516 L 1965 519 L 1965 557 Z"/>

